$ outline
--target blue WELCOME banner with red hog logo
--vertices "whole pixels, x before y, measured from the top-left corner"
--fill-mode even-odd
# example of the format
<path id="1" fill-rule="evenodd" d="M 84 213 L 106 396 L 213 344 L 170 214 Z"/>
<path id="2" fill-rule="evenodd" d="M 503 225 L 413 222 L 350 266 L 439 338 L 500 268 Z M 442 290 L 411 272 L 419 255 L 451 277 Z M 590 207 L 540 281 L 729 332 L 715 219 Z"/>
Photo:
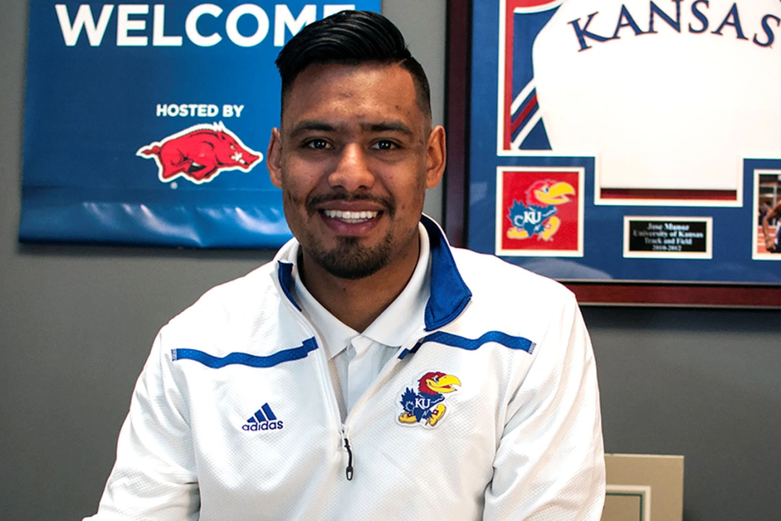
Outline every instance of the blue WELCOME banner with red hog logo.
<path id="1" fill-rule="evenodd" d="M 280 246 L 273 62 L 343 9 L 380 0 L 31 0 L 20 240 Z"/>

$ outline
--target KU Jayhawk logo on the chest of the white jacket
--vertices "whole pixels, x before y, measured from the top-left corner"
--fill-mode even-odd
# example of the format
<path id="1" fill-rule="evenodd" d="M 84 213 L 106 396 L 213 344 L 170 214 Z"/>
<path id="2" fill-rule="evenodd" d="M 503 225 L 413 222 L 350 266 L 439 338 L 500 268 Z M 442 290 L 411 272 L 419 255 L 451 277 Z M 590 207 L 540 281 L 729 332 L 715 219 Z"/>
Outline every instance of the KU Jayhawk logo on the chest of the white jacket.
<path id="1" fill-rule="evenodd" d="M 415 388 L 405 388 L 401 393 L 401 413 L 398 423 L 434 427 L 444 416 L 448 407 L 444 405 L 445 395 L 455 392 L 461 381 L 452 374 L 430 372 L 415 382 Z"/>

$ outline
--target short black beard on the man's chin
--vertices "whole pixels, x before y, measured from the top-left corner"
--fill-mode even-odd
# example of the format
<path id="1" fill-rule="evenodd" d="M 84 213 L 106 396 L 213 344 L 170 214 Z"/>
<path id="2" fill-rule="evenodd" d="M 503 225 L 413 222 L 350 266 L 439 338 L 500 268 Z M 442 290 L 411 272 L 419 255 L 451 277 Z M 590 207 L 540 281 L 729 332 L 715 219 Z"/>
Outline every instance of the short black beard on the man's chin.
<path id="1" fill-rule="evenodd" d="M 370 248 L 361 246 L 358 237 L 338 237 L 337 240 L 336 248 L 324 250 L 322 245 L 310 237 L 306 248 L 306 253 L 334 277 L 348 280 L 366 278 L 385 268 L 391 260 L 391 230 L 379 244 Z"/>

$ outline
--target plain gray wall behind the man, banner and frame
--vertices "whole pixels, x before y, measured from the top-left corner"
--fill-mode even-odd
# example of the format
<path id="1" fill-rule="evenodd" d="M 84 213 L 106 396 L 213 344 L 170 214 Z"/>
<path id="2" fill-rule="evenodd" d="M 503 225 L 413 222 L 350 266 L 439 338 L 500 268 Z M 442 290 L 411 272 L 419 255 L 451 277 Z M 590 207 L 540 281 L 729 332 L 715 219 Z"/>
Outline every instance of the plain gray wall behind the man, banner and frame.
<path id="1" fill-rule="evenodd" d="M 0 519 L 95 511 L 152 338 L 272 252 L 22 246 L 27 2 L 0 2 Z M 444 0 L 385 0 L 441 121 Z M 441 215 L 441 192 L 426 211 Z M 609 452 L 686 455 L 686 521 L 779 519 L 781 321 L 770 311 L 587 308 Z"/>

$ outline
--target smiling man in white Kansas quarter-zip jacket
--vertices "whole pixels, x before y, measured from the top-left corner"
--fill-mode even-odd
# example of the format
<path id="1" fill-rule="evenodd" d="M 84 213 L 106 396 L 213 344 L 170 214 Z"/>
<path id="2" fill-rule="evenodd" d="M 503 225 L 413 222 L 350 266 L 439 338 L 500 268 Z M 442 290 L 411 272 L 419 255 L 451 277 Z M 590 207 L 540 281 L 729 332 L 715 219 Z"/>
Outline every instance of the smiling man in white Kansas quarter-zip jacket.
<path id="1" fill-rule="evenodd" d="M 277 65 L 295 239 L 162 328 L 91 519 L 599 519 L 575 299 L 421 216 L 445 137 L 398 29 L 342 12 Z"/>

